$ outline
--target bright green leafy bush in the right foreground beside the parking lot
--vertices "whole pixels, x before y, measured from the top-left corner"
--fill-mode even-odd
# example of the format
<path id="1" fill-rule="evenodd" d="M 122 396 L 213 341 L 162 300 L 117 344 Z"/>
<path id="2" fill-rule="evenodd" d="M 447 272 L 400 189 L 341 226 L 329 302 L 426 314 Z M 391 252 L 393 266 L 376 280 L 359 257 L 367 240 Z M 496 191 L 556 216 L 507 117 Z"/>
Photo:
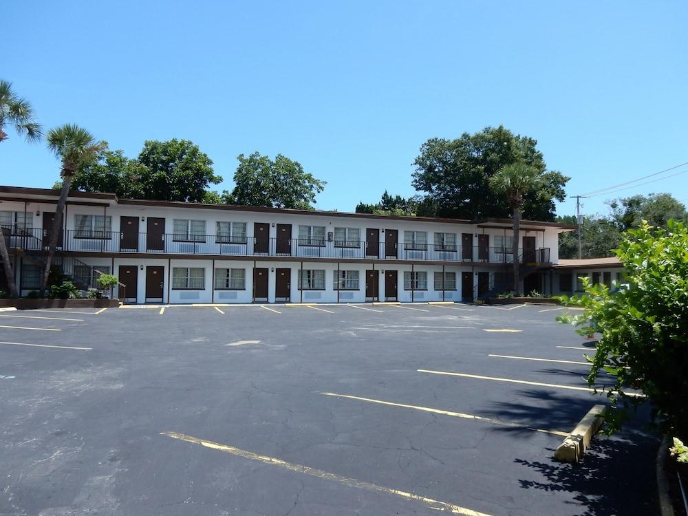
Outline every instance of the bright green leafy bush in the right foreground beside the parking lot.
<path id="1" fill-rule="evenodd" d="M 584 279 L 587 295 L 562 296 L 560 301 L 582 306 L 585 312 L 557 319 L 576 325 L 581 335 L 601 333 L 588 383 L 593 385 L 602 372 L 615 379 L 607 391 L 609 431 L 619 429 L 629 409 L 643 402 L 625 394 L 631 387 L 648 396 L 663 431 L 686 436 L 688 229 L 674 221 L 666 229 L 643 222 L 625 233 L 616 255 L 627 271 L 625 284 L 610 292 Z"/>

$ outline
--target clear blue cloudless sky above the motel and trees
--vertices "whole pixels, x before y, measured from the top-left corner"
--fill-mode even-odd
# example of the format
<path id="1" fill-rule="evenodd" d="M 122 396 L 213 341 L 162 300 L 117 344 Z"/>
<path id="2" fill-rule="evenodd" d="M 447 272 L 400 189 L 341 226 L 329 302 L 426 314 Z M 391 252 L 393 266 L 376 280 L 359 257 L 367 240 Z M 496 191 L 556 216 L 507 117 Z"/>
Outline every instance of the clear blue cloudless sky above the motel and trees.
<path id="1" fill-rule="evenodd" d="M 411 195 L 428 138 L 499 124 L 569 195 L 688 162 L 685 1 L 8 0 L 0 19 L 0 76 L 45 127 L 130 157 L 193 140 L 220 189 L 240 153 L 283 153 L 327 180 L 319 208 L 353 211 Z M 10 138 L 0 183 L 51 186 L 45 146 Z M 688 173 L 611 197 L 660 191 L 688 202 Z"/>

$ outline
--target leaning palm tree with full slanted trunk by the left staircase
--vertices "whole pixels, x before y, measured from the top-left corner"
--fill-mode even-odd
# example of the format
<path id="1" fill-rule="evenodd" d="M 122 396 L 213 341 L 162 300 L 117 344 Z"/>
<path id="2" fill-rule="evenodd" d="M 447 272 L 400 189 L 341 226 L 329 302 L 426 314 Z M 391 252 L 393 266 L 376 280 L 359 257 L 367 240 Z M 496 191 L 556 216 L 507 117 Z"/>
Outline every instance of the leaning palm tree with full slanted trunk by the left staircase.
<path id="1" fill-rule="evenodd" d="M 105 142 L 96 142 L 96 139 L 89 131 L 78 127 L 76 124 L 65 124 L 50 129 L 46 139 L 48 148 L 62 160 L 62 170 L 60 172 L 62 189 L 60 191 L 60 199 L 57 202 L 57 208 L 55 209 L 52 233 L 50 233 L 45 270 L 43 271 L 43 279 L 41 281 L 41 297 L 45 294 L 47 279 L 50 275 L 50 266 L 55 255 L 55 248 L 57 247 L 58 235 L 62 231 L 62 218 L 65 213 L 65 204 L 67 204 L 67 195 L 69 195 L 69 187 L 72 186 L 72 180 L 81 164 L 94 158 L 95 155 L 106 147 Z"/>

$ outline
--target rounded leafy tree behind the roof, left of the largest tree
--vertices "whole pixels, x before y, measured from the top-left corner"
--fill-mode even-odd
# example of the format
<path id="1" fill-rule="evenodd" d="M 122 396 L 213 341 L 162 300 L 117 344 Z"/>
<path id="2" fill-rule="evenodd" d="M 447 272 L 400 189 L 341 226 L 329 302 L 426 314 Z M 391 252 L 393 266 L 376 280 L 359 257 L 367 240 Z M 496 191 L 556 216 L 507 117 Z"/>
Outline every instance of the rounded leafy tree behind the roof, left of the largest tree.
<path id="1" fill-rule="evenodd" d="M 316 195 L 327 184 L 305 172 L 299 162 L 281 154 L 270 160 L 255 152 L 249 156 L 241 154 L 237 160 L 235 187 L 225 196 L 230 204 L 312 210 Z"/>

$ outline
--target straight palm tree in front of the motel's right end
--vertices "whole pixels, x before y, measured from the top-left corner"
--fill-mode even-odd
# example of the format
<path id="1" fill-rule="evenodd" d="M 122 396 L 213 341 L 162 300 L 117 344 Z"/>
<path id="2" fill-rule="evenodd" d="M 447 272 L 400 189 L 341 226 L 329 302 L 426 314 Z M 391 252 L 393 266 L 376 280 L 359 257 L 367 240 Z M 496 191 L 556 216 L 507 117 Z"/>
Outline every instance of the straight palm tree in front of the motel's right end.
<path id="1" fill-rule="evenodd" d="M 509 206 L 513 209 L 513 252 L 514 292 L 519 291 L 519 256 L 518 236 L 525 193 L 533 191 L 539 184 L 539 173 L 535 167 L 522 162 L 502 166 L 490 178 L 490 187 L 497 195 L 504 195 Z"/>

